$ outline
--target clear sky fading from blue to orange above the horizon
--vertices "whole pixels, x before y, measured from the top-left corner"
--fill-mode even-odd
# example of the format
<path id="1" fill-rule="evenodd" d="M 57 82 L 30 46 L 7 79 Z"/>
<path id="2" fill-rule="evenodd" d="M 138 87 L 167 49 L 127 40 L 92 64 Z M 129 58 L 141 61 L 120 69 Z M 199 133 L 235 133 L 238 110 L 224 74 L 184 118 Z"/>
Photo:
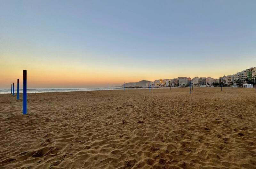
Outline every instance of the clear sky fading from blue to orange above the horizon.
<path id="1" fill-rule="evenodd" d="M 105 87 L 256 66 L 256 1 L 0 0 L 0 88 Z M 22 82 L 22 80 L 21 80 Z"/>

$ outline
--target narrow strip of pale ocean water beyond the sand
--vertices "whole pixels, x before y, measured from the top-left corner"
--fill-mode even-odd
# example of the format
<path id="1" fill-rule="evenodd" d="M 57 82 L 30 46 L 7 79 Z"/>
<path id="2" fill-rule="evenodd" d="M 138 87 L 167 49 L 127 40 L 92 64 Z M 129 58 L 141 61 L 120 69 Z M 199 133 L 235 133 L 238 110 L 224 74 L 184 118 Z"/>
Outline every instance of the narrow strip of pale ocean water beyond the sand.
<path id="1" fill-rule="evenodd" d="M 125 90 L 131 89 L 143 89 L 143 88 L 125 88 Z M 124 88 L 27 88 L 27 93 L 47 93 L 47 92 L 75 92 L 75 91 L 95 91 L 95 90 L 124 90 Z M 0 88 L 0 94 L 11 94 L 10 88 Z M 17 89 L 14 88 L 14 93 L 17 93 Z M 23 89 L 20 88 L 19 93 L 23 93 Z"/>

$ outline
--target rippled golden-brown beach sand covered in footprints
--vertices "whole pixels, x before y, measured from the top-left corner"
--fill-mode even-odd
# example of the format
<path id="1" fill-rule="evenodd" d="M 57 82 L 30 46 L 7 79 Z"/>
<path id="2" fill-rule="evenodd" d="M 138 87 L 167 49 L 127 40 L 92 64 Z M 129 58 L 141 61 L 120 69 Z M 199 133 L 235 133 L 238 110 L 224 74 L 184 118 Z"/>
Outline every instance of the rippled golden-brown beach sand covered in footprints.
<path id="1" fill-rule="evenodd" d="M 140 92 L 140 93 L 139 93 Z M 256 90 L 0 95 L 0 168 L 256 168 Z"/>

